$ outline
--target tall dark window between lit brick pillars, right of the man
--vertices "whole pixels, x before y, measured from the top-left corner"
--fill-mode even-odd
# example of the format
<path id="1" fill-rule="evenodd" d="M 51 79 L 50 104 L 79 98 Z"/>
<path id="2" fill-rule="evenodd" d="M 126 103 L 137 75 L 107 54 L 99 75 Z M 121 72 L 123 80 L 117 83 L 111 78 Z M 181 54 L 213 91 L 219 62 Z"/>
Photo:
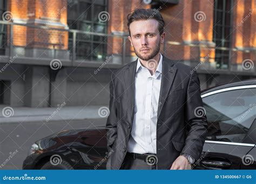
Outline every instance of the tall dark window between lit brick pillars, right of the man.
<path id="1" fill-rule="evenodd" d="M 213 41 L 217 68 L 227 69 L 231 56 L 233 0 L 214 1 Z"/>

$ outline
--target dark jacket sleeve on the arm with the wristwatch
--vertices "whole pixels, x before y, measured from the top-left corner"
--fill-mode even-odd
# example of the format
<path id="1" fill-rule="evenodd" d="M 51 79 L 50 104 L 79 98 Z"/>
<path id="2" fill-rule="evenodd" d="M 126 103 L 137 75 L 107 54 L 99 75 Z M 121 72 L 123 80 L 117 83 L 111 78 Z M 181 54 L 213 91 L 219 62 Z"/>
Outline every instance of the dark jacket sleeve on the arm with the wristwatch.
<path id="1" fill-rule="evenodd" d="M 190 81 L 187 87 L 185 123 L 187 137 L 185 146 L 181 152 L 191 155 L 198 160 L 207 135 L 206 112 L 200 93 L 200 82 L 196 71 L 190 73 Z"/>

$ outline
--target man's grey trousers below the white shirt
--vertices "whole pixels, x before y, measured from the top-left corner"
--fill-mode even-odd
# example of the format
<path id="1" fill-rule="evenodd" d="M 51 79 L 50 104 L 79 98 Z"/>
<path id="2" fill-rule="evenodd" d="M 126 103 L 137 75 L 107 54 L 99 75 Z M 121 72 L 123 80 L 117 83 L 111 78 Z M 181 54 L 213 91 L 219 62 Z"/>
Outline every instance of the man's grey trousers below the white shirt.
<path id="1" fill-rule="evenodd" d="M 144 169 L 144 170 L 152 170 L 157 169 L 157 165 L 147 165 L 147 163 L 142 159 L 133 159 L 130 155 L 125 155 L 124 161 L 120 169 Z"/>

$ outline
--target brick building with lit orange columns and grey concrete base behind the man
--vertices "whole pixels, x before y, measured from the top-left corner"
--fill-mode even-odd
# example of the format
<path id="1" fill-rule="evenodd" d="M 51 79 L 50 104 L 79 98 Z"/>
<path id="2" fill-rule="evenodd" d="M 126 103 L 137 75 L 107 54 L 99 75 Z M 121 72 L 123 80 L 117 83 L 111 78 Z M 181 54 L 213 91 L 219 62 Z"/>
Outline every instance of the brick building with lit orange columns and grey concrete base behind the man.
<path id="1" fill-rule="evenodd" d="M 126 15 L 154 8 L 161 51 L 201 89 L 255 78 L 256 0 L 0 0 L 0 104 L 107 105 L 111 71 L 136 59 Z"/>

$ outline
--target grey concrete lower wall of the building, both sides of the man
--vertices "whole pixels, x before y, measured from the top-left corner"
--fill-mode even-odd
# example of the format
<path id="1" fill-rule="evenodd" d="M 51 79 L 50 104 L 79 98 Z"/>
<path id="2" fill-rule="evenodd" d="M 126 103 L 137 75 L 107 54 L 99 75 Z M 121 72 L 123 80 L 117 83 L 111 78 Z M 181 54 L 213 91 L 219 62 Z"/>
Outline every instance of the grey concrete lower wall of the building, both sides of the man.
<path id="1" fill-rule="evenodd" d="M 47 66 L 13 64 L 0 73 L 0 80 L 4 81 L 3 103 L 12 107 L 57 107 L 63 102 L 67 106 L 108 105 L 112 70 L 103 68 L 94 74 L 95 69 L 63 67 L 54 77 Z M 253 78 L 229 74 L 198 76 L 201 90 Z"/>

